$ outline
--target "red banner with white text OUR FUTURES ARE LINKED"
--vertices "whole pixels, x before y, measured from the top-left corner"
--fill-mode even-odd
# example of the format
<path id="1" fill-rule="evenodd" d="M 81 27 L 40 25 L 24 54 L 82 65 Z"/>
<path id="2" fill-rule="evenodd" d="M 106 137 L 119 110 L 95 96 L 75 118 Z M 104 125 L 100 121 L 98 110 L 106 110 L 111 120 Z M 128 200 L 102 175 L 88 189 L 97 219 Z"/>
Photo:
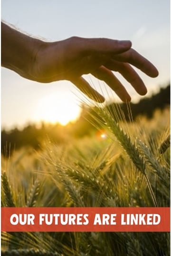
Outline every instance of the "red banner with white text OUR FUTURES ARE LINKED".
<path id="1" fill-rule="evenodd" d="M 169 232 L 169 207 L 2 207 L 6 232 Z"/>

